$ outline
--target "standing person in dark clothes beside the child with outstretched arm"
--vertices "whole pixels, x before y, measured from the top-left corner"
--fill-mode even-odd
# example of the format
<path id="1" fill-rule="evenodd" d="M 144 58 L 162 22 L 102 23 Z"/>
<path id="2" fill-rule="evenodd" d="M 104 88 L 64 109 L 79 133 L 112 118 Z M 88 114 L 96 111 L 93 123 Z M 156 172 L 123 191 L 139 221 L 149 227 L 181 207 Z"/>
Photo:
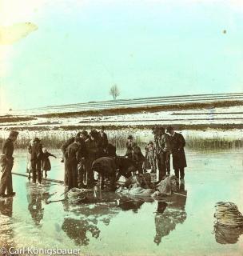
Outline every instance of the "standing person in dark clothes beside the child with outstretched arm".
<path id="1" fill-rule="evenodd" d="M 28 147 L 32 168 L 32 182 L 42 184 L 42 144 L 39 138 L 34 138 L 33 145 Z"/>

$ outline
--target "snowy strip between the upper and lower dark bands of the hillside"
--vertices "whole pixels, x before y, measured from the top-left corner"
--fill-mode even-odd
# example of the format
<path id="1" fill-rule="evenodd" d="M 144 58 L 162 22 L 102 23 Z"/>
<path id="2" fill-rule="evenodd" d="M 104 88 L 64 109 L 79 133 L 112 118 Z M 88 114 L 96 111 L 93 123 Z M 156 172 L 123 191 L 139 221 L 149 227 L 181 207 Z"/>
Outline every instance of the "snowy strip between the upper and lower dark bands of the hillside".
<path id="1" fill-rule="evenodd" d="M 57 126 L 152 126 L 152 125 L 207 125 L 207 124 L 241 124 L 243 105 L 228 108 L 199 110 L 166 110 L 158 112 L 142 111 L 136 114 L 96 114 L 67 118 L 40 118 L 26 122 L 5 122 L 1 128 L 39 126 L 54 128 Z"/>

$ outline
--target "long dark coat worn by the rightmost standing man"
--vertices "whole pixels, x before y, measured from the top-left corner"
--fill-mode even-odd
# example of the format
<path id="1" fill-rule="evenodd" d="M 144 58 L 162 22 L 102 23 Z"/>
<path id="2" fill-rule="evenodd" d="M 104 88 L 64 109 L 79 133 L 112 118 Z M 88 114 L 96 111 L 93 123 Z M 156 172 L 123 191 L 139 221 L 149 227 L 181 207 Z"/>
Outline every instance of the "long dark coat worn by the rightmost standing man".
<path id="1" fill-rule="evenodd" d="M 175 133 L 173 136 L 169 137 L 170 148 L 173 156 L 173 169 L 186 167 L 185 159 L 185 138 L 182 134 Z"/>

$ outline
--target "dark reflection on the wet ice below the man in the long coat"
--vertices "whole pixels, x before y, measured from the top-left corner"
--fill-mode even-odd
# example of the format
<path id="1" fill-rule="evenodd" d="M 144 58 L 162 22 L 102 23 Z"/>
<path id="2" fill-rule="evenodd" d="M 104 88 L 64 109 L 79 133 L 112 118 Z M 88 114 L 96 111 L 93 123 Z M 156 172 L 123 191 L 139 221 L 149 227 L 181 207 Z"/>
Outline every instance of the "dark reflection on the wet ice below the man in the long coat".
<path id="1" fill-rule="evenodd" d="M 157 246 L 161 243 L 161 238 L 169 235 L 178 223 L 185 222 L 185 199 L 182 202 L 184 202 L 183 206 L 181 206 L 180 200 L 178 200 L 178 206 L 177 202 L 174 202 L 172 206 L 168 206 L 166 202 L 157 202 L 157 214 L 154 218 L 156 234 L 153 240 Z M 173 208 L 173 211 L 170 211 L 169 208 Z"/>

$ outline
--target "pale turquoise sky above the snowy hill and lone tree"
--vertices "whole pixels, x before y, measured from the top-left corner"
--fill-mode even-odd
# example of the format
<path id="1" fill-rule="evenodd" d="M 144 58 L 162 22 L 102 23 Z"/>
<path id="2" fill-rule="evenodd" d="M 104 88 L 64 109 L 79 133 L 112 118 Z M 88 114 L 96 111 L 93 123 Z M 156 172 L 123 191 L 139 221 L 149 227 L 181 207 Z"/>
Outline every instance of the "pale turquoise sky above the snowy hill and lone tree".
<path id="1" fill-rule="evenodd" d="M 242 1 L 0 0 L 0 109 L 242 92 L 242 45 Z"/>

